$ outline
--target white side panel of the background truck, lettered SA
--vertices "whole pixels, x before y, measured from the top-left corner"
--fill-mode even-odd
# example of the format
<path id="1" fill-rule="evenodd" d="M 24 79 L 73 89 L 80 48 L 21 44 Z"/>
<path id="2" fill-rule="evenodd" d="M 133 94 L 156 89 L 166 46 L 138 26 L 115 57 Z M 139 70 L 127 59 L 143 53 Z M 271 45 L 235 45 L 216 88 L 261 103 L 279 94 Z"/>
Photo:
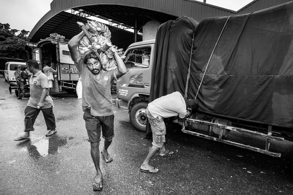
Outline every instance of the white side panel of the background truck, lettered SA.
<path id="1" fill-rule="evenodd" d="M 59 44 L 59 80 L 74 80 L 78 81 L 79 73 L 70 57 L 70 52 L 67 44 Z"/>

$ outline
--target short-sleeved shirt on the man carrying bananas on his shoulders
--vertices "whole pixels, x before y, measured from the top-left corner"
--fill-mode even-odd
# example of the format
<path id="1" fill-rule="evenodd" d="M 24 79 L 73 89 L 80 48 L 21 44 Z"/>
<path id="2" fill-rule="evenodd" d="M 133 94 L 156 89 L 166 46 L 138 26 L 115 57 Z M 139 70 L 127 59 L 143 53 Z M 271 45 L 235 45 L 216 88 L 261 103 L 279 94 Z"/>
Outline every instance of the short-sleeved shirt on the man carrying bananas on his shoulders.
<path id="1" fill-rule="evenodd" d="M 100 71 L 94 75 L 85 66 L 82 58 L 74 62 L 81 75 L 83 86 L 83 111 L 90 106 L 92 116 L 105 117 L 114 114 L 111 96 L 111 81 L 116 78 L 116 69 L 110 71 Z"/>

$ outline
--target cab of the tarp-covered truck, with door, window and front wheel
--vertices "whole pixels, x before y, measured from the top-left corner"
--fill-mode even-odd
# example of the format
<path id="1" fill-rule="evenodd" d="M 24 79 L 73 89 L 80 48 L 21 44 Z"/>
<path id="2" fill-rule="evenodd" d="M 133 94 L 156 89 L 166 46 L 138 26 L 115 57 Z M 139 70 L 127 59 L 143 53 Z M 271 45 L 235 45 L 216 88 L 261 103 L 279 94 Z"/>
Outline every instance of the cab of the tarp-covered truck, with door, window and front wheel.
<path id="1" fill-rule="evenodd" d="M 117 80 L 116 105 L 127 106 L 131 123 L 140 131 L 146 131 L 154 44 L 155 39 L 129 45 L 122 57 L 127 72 Z"/>

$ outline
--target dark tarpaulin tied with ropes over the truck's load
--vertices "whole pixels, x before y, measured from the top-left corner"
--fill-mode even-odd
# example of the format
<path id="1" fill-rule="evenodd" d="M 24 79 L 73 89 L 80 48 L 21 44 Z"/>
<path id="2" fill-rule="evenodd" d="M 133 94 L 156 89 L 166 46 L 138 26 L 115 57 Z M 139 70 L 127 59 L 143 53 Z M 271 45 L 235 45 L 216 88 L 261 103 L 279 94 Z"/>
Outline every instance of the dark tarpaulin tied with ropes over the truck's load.
<path id="1" fill-rule="evenodd" d="M 232 16 L 223 30 L 227 20 L 180 17 L 159 27 L 150 101 L 185 95 L 192 47 L 187 98 L 196 97 L 212 56 L 197 96 L 200 111 L 292 128 L 293 3 Z"/>

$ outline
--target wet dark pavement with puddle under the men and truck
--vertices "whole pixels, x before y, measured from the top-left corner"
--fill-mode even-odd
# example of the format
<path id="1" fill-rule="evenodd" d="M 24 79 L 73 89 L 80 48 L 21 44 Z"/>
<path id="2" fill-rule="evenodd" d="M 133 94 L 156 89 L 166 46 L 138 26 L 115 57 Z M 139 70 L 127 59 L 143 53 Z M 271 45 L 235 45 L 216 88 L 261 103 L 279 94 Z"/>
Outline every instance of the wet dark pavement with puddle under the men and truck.
<path id="1" fill-rule="evenodd" d="M 109 153 L 101 160 L 102 192 L 92 191 L 95 168 L 87 141 L 82 99 L 56 94 L 53 112 L 57 133 L 45 137 L 42 112 L 30 141 L 14 141 L 23 134 L 28 100 L 9 93 L 0 76 L 0 195 L 291 195 L 293 194 L 293 143 L 271 142 L 272 157 L 180 132 L 167 125 L 167 149 L 173 156 L 153 156 L 150 163 L 160 173 L 141 173 L 139 167 L 151 146 L 144 132 L 130 124 L 128 112 L 115 109 Z M 28 96 L 27 96 L 28 97 Z M 233 137 L 233 135 L 231 135 Z M 264 140 L 234 135 L 251 144 Z M 100 149 L 103 148 L 102 139 Z"/>

